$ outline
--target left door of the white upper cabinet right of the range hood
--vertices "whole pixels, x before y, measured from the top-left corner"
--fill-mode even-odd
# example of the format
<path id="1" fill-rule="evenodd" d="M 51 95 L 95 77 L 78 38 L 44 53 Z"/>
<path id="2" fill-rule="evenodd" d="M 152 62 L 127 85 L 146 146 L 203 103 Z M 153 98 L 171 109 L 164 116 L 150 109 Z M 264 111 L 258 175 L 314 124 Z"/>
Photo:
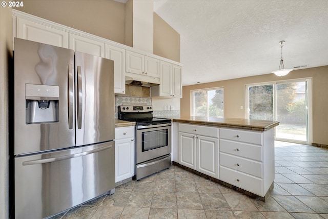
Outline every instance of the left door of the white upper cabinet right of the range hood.
<path id="1" fill-rule="evenodd" d="M 171 96 L 172 64 L 160 61 L 159 96 Z"/>

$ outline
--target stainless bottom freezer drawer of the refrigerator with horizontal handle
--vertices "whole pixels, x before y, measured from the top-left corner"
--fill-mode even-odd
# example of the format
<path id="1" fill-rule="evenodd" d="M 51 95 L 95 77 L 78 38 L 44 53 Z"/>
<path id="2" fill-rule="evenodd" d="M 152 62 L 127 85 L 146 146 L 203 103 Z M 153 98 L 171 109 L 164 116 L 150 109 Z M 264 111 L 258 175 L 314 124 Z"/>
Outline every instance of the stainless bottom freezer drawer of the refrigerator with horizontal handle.
<path id="1" fill-rule="evenodd" d="M 15 218 L 44 218 L 115 188 L 114 141 L 15 157 Z"/>

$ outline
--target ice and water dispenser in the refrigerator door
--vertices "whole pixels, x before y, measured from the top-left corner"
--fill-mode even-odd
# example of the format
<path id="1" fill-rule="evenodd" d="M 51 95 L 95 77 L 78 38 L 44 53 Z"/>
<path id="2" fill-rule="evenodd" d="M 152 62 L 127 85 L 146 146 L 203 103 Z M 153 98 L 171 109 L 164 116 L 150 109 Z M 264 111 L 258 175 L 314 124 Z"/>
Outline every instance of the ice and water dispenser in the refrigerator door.
<path id="1" fill-rule="evenodd" d="M 26 124 L 59 121 L 59 86 L 25 85 Z"/>

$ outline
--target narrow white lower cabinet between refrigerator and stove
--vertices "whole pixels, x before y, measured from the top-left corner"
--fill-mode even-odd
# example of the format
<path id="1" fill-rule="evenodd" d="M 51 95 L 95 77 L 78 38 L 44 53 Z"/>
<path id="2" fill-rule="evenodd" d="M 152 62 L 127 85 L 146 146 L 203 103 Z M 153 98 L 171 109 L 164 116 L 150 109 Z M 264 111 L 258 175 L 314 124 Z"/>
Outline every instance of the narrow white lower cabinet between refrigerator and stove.
<path id="1" fill-rule="evenodd" d="M 115 182 L 134 176 L 134 126 L 115 128 Z"/>

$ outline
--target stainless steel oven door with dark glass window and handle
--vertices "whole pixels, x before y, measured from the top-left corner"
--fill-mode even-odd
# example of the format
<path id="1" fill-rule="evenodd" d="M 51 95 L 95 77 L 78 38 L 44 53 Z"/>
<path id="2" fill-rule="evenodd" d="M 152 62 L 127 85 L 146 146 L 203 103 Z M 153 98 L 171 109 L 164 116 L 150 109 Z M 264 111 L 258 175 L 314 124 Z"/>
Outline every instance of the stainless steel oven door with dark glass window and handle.
<path id="1" fill-rule="evenodd" d="M 136 164 L 171 153 L 171 123 L 137 126 Z"/>

